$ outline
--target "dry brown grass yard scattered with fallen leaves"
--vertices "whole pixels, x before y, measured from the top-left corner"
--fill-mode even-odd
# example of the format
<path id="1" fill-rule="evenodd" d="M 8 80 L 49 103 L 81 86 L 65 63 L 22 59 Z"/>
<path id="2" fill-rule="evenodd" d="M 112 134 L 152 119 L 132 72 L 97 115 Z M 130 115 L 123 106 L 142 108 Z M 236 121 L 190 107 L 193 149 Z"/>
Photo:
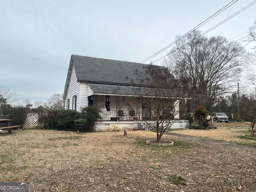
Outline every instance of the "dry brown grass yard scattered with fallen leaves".
<path id="1" fill-rule="evenodd" d="M 240 137 L 246 129 L 236 124 L 218 126 L 221 127 L 216 130 L 195 130 L 193 134 L 208 138 L 215 135 L 218 140 L 248 140 Z M 223 134 L 230 136 L 216 137 Z M 146 131 L 128 131 L 127 137 L 123 132 L 0 132 L 0 180 L 29 182 L 31 192 L 256 190 L 254 149 L 167 135 L 163 139 L 173 140 L 174 146 L 146 146 L 145 140 L 151 138 L 155 134 Z"/>

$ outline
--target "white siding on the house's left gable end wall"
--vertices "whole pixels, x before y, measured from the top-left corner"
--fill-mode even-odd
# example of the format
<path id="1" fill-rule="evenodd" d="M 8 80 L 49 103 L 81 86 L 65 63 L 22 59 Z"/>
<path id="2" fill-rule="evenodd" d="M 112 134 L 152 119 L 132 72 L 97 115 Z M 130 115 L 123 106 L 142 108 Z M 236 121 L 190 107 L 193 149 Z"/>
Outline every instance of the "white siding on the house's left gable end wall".
<path id="1" fill-rule="evenodd" d="M 74 95 L 76 95 L 76 110 L 80 110 L 80 83 L 77 82 L 76 72 L 73 67 L 65 101 L 65 103 L 67 104 L 67 100 L 69 99 L 69 109 L 72 109 Z"/>

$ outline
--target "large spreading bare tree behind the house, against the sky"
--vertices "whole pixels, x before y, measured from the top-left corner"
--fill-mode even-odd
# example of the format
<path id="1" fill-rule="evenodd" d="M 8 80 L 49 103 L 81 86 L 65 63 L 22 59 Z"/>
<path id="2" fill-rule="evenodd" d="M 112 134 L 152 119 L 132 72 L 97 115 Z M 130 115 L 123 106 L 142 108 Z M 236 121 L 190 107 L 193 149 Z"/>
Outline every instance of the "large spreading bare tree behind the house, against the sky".
<path id="1" fill-rule="evenodd" d="M 187 82 L 194 106 L 208 110 L 234 86 L 234 80 L 247 68 L 248 57 L 241 44 L 223 36 L 206 37 L 194 31 L 170 50 L 166 66 L 174 66 L 173 74 Z"/>

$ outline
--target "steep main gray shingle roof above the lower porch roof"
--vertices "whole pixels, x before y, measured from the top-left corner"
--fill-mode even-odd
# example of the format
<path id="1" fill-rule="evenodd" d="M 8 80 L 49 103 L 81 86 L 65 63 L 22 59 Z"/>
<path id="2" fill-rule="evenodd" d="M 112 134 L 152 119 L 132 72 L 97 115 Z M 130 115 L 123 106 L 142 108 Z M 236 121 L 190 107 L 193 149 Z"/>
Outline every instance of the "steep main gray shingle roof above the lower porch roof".
<path id="1" fill-rule="evenodd" d="M 130 80 L 140 85 L 134 70 L 144 72 L 146 64 L 72 55 L 76 77 L 79 82 L 129 85 Z M 126 77 L 129 79 L 126 79 Z"/>

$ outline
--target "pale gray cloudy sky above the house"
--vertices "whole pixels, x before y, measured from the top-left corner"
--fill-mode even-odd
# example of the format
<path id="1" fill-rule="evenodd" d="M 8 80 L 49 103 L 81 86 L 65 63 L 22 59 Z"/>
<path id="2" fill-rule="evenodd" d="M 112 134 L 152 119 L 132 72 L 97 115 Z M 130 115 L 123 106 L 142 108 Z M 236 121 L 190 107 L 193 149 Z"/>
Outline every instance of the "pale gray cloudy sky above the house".
<path id="1" fill-rule="evenodd" d="M 71 54 L 142 62 L 231 1 L 0 0 L 0 85 L 15 91 L 20 103 L 46 102 L 63 93 Z M 238 0 L 199 30 L 251 2 Z M 256 4 L 206 35 L 234 38 L 255 19 Z"/>

